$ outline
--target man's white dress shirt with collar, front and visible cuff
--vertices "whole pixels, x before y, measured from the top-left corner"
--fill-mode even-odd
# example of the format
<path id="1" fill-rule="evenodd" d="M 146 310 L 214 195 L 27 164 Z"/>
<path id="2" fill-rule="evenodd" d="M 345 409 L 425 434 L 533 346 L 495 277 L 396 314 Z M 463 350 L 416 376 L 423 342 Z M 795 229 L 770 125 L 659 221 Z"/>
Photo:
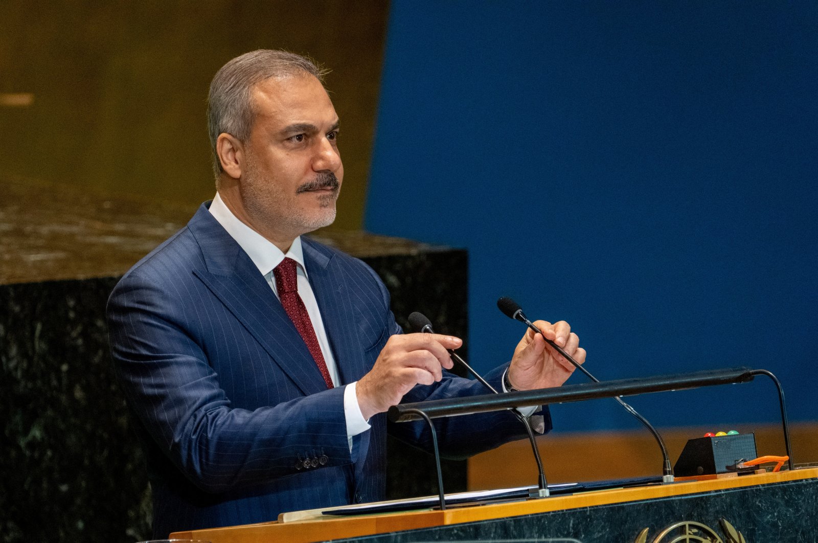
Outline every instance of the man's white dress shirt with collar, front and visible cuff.
<path id="1" fill-rule="evenodd" d="M 213 198 L 213 203 L 210 204 L 209 210 L 213 218 L 236 240 L 236 243 L 240 245 L 241 249 L 245 250 L 250 260 L 258 267 L 258 271 L 261 272 L 264 279 L 267 280 L 267 285 L 270 285 L 273 293 L 276 294 L 276 298 L 278 297 L 276 278 L 272 275 L 272 271 L 284 258 L 292 258 L 298 264 L 295 270 L 298 279 L 299 296 L 303 300 L 304 306 L 307 307 L 310 321 L 312 321 L 312 328 L 315 330 L 318 345 L 321 347 L 321 353 L 324 355 L 324 361 L 326 361 L 326 369 L 330 371 L 332 384 L 337 387 L 339 384 L 338 366 L 335 364 L 335 357 L 332 356 L 330 342 L 326 337 L 324 321 L 321 319 L 321 311 L 318 309 L 315 293 L 312 292 L 312 286 L 309 284 L 307 266 L 304 264 L 303 251 L 301 249 L 300 236 L 295 238 L 293 245 L 290 245 L 290 250 L 287 251 L 287 254 L 284 254 L 281 252 L 281 249 L 272 244 L 267 238 L 236 218 L 236 215 L 234 215 L 230 209 L 227 209 L 227 205 L 224 204 L 218 192 Z M 358 405 L 357 395 L 355 393 L 356 384 L 357 382 L 348 384 L 344 389 L 344 415 L 346 416 L 347 438 L 350 451 L 352 451 L 353 436 L 357 436 L 357 434 L 366 432 L 366 430 L 371 428 L 366 420 L 364 420 L 361 413 L 361 406 Z"/>

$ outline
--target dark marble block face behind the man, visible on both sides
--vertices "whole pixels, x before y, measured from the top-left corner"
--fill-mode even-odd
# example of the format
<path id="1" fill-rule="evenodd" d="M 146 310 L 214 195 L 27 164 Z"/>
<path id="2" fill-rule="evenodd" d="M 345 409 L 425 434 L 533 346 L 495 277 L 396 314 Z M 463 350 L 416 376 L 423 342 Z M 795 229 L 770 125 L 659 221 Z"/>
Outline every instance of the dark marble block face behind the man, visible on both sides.
<path id="1" fill-rule="evenodd" d="M 379 245 L 387 253 L 364 259 L 389 286 L 402 325 L 421 311 L 465 337 L 465 251 L 404 243 L 396 254 L 383 250 L 386 240 L 354 236 L 359 253 L 377 254 Z M 107 345 L 104 310 L 116 280 L 0 285 L 0 541 L 150 534 L 144 459 Z M 389 451 L 390 497 L 436 492 L 429 455 L 391 442 Z M 447 491 L 465 490 L 465 462 L 446 462 L 445 472 Z"/>

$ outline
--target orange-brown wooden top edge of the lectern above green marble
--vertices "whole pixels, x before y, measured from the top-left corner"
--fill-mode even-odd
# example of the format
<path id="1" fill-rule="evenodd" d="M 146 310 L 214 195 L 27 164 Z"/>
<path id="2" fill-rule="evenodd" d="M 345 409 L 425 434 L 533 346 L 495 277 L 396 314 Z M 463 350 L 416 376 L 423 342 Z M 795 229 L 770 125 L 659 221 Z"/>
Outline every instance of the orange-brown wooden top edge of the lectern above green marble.
<path id="1" fill-rule="evenodd" d="M 190 532 L 174 532 L 171 534 L 171 538 L 198 539 L 211 541 L 211 543 L 250 543 L 262 540 L 288 541 L 288 543 L 326 541 L 811 478 L 818 478 L 818 468 L 797 469 L 779 473 L 757 473 L 705 481 L 676 482 L 650 487 L 587 491 L 570 496 L 551 496 L 537 500 L 474 505 L 445 511 L 425 509 L 392 514 L 367 514 L 355 517 L 326 516 L 324 518 L 288 523 L 246 524 L 243 526 L 192 530 Z"/>

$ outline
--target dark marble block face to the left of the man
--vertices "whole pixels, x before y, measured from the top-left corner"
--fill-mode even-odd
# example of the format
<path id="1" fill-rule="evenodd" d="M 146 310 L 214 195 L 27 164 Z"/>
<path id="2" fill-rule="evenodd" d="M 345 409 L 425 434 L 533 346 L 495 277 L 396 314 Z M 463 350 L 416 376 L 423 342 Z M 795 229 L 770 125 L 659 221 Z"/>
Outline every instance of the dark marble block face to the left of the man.
<path id="1" fill-rule="evenodd" d="M 149 493 L 107 346 L 116 280 L 0 286 L 0 541 L 136 541 Z"/>

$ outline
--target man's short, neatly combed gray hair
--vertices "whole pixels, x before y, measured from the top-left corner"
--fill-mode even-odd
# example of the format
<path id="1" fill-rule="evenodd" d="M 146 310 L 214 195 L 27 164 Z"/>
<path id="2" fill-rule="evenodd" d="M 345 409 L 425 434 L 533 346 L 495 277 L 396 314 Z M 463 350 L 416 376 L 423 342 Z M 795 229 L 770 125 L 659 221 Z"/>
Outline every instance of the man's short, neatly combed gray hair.
<path id="1" fill-rule="evenodd" d="M 217 188 L 218 176 L 224 170 L 216 152 L 216 140 L 219 134 L 227 132 L 241 142 L 247 141 L 255 118 L 250 89 L 266 79 L 299 74 L 312 75 L 323 84 L 328 71 L 306 56 L 272 49 L 258 49 L 236 56 L 218 70 L 210 82 L 207 108 Z"/>

